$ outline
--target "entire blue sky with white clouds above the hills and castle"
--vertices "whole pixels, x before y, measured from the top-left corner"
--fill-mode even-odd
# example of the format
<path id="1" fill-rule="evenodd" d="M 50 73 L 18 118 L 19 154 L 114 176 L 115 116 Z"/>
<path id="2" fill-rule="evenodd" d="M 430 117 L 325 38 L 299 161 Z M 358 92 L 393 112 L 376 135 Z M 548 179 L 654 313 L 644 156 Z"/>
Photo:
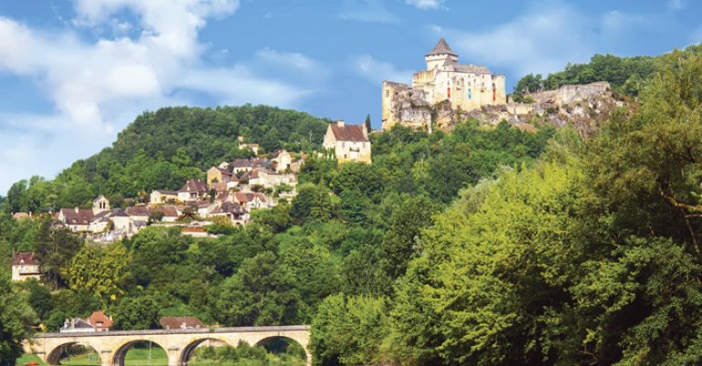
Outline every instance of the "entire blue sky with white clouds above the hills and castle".
<path id="1" fill-rule="evenodd" d="M 109 146 L 144 110 L 270 104 L 380 119 L 446 37 L 463 62 L 556 71 L 702 41 L 697 0 L 22 0 L 0 3 L 0 192 Z"/>

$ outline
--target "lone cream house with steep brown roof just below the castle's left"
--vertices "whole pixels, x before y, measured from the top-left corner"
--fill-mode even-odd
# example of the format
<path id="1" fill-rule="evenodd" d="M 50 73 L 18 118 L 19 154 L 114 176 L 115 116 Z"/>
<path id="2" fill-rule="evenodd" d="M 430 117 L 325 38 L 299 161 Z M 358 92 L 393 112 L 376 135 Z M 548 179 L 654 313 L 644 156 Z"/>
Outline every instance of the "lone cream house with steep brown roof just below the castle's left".
<path id="1" fill-rule="evenodd" d="M 329 123 L 323 146 L 335 152 L 338 162 L 371 162 L 370 141 L 363 125 L 346 124 L 343 120 Z"/>

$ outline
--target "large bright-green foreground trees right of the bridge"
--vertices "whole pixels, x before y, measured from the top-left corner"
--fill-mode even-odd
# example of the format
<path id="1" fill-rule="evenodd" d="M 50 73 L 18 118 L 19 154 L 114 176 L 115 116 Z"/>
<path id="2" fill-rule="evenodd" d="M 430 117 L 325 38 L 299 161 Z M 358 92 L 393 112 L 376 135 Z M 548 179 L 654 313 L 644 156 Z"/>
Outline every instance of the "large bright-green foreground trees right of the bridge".
<path id="1" fill-rule="evenodd" d="M 700 364 L 702 57 L 660 62 L 633 117 L 591 141 L 560 131 L 535 166 L 434 216 L 387 312 L 327 298 L 315 340 L 350 340 L 318 340 L 317 361 Z M 358 330 L 356 311 L 387 336 Z"/>

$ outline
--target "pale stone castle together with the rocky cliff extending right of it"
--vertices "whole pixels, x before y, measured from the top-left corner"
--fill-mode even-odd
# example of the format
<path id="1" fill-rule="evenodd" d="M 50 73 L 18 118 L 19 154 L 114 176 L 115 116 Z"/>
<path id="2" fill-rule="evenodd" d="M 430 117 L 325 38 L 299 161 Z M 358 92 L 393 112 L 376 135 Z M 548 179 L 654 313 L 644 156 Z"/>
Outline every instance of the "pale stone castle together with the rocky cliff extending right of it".
<path id="1" fill-rule="evenodd" d="M 590 131 L 597 120 L 624 103 L 606 81 L 527 92 L 519 95 L 519 101 L 507 99 L 505 75 L 486 66 L 459 64 L 458 55 L 443 38 L 424 59 L 427 69 L 412 75 L 411 86 L 383 81 L 384 131 L 397 124 L 450 131 L 469 118 L 485 124 L 507 120 L 520 128 L 535 120 L 555 126 L 573 122 L 580 131 Z"/>

